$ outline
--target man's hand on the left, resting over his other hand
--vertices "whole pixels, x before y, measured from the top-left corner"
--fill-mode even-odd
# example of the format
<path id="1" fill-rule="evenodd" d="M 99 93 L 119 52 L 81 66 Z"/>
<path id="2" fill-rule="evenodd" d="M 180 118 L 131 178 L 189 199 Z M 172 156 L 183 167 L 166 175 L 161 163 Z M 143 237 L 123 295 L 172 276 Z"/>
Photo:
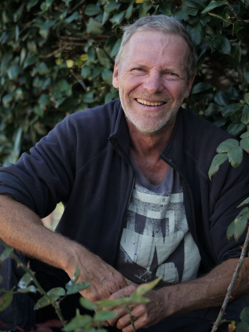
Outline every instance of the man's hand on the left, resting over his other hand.
<path id="1" fill-rule="evenodd" d="M 82 251 L 82 258 L 77 262 L 80 268 L 78 282 L 90 282 L 91 285 L 80 293 L 91 301 L 107 299 L 113 293 L 127 286 L 127 283 L 117 270 L 104 262 L 100 257 L 92 254 L 84 247 L 78 248 Z M 76 264 L 68 272 L 72 279 Z"/>

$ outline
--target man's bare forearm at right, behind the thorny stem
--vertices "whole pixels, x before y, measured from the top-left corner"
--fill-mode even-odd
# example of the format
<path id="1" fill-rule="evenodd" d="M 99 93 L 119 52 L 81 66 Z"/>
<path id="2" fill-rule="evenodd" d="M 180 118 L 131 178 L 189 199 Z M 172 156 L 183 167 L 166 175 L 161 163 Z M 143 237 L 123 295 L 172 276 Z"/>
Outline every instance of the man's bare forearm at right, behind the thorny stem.
<path id="1" fill-rule="evenodd" d="M 161 289 L 168 314 L 180 314 L 221 306 L 239 259 L 229 259 L 207 275 L 193 281 Z M 249 292 L 249 259 L 246 258 L 232 291 L 232 298 Z"/>

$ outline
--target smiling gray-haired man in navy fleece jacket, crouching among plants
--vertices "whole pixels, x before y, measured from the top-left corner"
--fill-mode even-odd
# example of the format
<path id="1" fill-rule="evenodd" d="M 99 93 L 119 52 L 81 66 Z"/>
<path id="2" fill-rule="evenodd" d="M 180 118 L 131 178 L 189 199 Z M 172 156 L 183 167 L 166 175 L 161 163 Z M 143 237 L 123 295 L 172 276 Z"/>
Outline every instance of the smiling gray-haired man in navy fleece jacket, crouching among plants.
<path id="1" fill-rule="evenodd" d="M 230 136 L 180 108 L 195 67 L 185 28 L 159 15 L 124 31 L 113 73 L 120 101 L 66 117 L 31 155 L 2 168 L 0 236 L 70 278 L 78 265 L 90 300 L 130 295 L 161 275 L 150 302 L 130 308 L 136 329 L 210 331 L 244 240 L 228 242 L 226 229 L 248 196 L 248 161 L 238 169 L 227 162 L 208 179 L 217 145 Z M 38 216 L 59 201 L 65 211 L 54 233 Z M 239 298 L 249 291 L 247 268 L 245 260 L 227 319 L 248 303 Z M 41 280 L 44 271 L 64 278 L 35 269 Z M 109 324 L 132 331 L 126 309 L 114 311 Z"/>

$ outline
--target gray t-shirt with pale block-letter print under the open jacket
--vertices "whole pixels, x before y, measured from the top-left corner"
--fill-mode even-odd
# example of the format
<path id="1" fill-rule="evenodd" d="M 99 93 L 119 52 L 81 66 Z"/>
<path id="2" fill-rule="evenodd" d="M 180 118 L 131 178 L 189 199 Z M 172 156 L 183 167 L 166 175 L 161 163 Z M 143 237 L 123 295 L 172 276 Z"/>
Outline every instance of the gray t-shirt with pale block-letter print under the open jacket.
<path id="1" fill-rule="evenodd" d="M 161 276 L 161 287 L 195 279 L 201 257 L 186 219 L 181 176 L 168 167 L 161 183 L 152 185 L 132 164 L 136 182 L 118 271 L 135 284 Z"/>

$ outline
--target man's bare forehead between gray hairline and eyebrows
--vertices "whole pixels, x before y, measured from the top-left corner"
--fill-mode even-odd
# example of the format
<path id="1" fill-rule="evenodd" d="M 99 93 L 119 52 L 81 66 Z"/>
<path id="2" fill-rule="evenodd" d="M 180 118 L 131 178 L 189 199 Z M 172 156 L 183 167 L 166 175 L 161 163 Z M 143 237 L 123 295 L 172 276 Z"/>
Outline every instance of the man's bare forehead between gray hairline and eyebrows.
<path id="1" fill-rule="evenodd" d="M 179 35 L 159 31 L 138 31 L 126 44 L 122 62 L 160 62 L 161 66 L 174 64 L 185 67 L 188 51 L 187 42 Z"/>

